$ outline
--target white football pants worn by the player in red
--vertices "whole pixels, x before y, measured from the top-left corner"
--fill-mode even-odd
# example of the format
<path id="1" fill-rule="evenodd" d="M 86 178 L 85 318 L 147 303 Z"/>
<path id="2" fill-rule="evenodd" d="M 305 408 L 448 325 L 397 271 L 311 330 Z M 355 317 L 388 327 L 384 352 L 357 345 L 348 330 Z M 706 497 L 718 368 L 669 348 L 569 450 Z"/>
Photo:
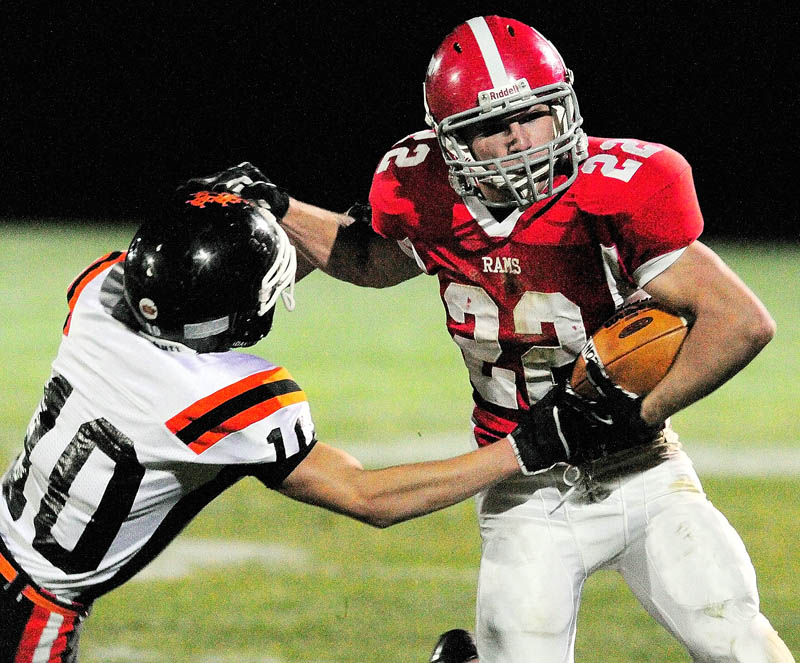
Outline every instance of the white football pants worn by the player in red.
<path id="1" fill-rule="evenodd" d="M 599 569 L 619 571 L 695 661 L 793 660 L 759 613 L 739 535 L 683 451 L 600 486 L 597 501 L 574 492 L 556 508 L 562 466 L 478 496 L 481 663 L 572 663 L 581 590 Z"/>

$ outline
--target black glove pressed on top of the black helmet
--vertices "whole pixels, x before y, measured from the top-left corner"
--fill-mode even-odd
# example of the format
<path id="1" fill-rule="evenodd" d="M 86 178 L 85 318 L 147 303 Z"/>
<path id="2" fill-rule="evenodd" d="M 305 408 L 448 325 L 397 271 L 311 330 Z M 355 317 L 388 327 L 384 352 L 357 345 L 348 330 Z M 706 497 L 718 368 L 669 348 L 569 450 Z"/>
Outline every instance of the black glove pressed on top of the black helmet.
<path id="1" fill-rule="evenodd" d="M 289 194 L 276 186 L 249 161 L 232 166 L 213 175 L 192 177 L 178 187 L 179 193 L 196 191 L 225 191 L 250 200 L 262 210 L 269 211 L 280 221 L 289 209 Z"/>

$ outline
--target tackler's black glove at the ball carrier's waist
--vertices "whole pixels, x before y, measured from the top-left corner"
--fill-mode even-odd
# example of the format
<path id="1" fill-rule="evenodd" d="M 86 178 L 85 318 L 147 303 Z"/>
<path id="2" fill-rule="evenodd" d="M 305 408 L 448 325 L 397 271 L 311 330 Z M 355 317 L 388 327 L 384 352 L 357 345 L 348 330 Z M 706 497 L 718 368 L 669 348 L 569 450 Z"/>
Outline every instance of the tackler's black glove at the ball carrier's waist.
<path id="1" fill-rule="evenodd" d="M 557 384 L 531 406 L 527 420 L 509 435 L 523 474 L 574 462 L 599 426 L 588 401 L 568 384 Z"/>

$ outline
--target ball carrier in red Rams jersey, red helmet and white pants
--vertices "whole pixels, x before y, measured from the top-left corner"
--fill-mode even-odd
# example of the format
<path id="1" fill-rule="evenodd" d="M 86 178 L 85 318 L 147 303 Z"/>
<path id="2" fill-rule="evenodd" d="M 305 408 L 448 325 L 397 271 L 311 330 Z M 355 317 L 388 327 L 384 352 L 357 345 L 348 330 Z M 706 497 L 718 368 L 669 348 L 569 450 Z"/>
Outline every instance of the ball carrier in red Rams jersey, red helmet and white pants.
<path id="1" fill-rule="evenodd" d="M 614 569 L 694 660 L 788 663 L 747 552 L 668 423 L 751 361 L 774 322 L 698 240 L 686 160 L 658 143 L 584 134 L 572 81 L 533 28 L 473 18 L 434 53 L 430 129 L 380 160 L 371 212 L 290 199 L 249 163 L 203 181 L 269 207 L 302 272 L 372 287 L 436 276 L 473 387 L 474 444 L 522 421 L 540 448 L 552 441 L 547 469 L 478 497 L 483 660 L 572 661 L 583 584 Z M 605 436 L 605 452 L 574 457 L 587 431 L 560 416 L 572 362 L 615 309 L 648 296 L 693 320 L 680 355 L 645 397 L 603 385 L 588 435 Z M 615 451 L 619 439 L 638 446 Z M 458 635 L 452 651 L 464 649 Z M 444 649 L 434 659 L 455 661 Z"/>

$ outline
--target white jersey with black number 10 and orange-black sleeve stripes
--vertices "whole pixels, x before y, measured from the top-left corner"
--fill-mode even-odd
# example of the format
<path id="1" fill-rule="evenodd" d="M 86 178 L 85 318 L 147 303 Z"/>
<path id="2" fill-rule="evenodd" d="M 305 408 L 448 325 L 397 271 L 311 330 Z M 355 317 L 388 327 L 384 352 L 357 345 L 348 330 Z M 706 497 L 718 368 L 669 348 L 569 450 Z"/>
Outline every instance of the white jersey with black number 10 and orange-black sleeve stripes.
<path id="1" fill-rule="evenodd" d="M 24 450 L 2 479 L 0 535 L 59 597 L 89 603 L 250 475 L 277 487 L 315 442 L 286 369 L 157 346 L 112 317 L 124 254 L 83 272 Z"/>

